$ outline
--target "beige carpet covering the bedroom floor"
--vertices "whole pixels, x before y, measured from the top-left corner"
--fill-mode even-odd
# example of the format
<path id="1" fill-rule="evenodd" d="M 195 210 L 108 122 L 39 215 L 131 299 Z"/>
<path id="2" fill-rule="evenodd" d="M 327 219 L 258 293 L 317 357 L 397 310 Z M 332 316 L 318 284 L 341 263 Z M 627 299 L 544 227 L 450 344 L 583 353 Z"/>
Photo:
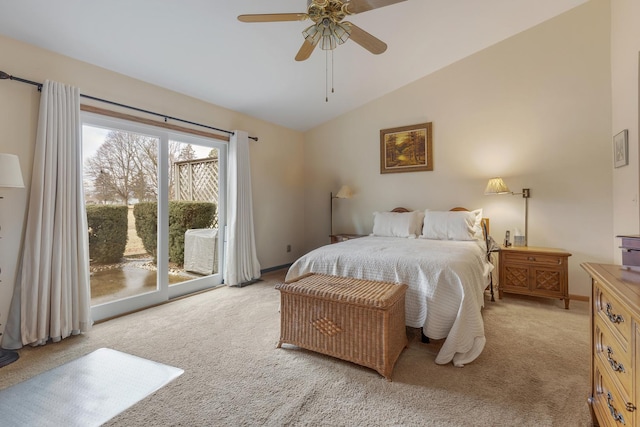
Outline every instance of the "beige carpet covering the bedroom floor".
<path id="1" fill-rule="evenodd" d="M 20 350 L 0 388 L 96 348 L 185 373 L 109 426 L 587 426 L 589 304 L 505 297 L 485 304 L 484 352 L 464 368 L 436 365 L 440 343 L 410 348 L 393 382 L 295 347 L 276 349 L 284 271 L 96 325 L 84 336 Z M 410 332 L 414 332 L 411 330 Z"/>

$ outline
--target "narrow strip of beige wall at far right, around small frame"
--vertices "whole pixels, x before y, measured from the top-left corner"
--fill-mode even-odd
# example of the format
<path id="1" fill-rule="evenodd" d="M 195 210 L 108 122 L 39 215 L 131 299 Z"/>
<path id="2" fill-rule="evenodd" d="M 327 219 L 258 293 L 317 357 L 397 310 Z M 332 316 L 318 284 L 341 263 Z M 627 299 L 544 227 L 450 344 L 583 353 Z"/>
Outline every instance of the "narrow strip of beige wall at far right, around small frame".
<path id="1" fill-rule="evenodd" d="M 638 61 L 640 60 L 640 2 L 611 2 L 612 135 L 629 130 L 629 166 L 613 172 L 613 235 L 638 234 Z M 620 239 L 614 238 L 616 263 L 622 262 Z"/>

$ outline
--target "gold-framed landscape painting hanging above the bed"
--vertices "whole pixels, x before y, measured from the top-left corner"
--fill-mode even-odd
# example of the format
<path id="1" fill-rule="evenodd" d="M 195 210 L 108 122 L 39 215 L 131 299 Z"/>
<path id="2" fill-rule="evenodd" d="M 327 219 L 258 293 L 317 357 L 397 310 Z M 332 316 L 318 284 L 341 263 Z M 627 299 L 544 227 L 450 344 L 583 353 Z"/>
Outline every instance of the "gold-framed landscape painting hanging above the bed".
<path id="1" fill-rule="evenodd" d="M 433 170 L 431 122 L 380 131 L 380 173 Z"/>

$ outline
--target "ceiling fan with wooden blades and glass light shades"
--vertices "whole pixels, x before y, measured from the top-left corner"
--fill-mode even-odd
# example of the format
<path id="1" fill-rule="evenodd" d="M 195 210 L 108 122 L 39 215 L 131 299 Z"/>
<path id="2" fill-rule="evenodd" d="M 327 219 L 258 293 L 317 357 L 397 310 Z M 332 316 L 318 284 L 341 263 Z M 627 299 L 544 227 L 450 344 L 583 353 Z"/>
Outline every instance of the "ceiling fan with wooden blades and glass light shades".
<path id="1" fill-rule="evenodd" d="M 280 22 L 310 19 L 313 21 L 313 25 L 302 32 L 304 42 L 296 55 L 296 61 L 304 61 L 309 58 L 318 45 L 323 50 L 333 50 L 337 45 L 343 44 L 349 39 L 369 52 L 379 55 L 387 50 L 386 43 L 355 24 L 344 21 L 344 19 L 348 15 L 355 15 L 402 1 L 406 0 L 308 0 L 306 13 L 240 15 L 238 20 L 242 22 Z"/>

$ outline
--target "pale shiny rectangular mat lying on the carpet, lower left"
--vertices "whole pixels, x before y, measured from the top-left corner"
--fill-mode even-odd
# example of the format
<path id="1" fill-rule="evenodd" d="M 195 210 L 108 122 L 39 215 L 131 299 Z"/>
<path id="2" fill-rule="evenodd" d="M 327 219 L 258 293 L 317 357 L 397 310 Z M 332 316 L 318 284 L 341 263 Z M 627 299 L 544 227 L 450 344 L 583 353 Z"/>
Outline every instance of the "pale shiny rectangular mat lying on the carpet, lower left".
<path id="1" fill-rule="evenodd" d="M 108 348 L 0 391 L 3 426 L 99 426 L 182 375 Z"/>

